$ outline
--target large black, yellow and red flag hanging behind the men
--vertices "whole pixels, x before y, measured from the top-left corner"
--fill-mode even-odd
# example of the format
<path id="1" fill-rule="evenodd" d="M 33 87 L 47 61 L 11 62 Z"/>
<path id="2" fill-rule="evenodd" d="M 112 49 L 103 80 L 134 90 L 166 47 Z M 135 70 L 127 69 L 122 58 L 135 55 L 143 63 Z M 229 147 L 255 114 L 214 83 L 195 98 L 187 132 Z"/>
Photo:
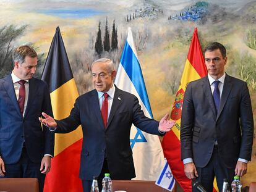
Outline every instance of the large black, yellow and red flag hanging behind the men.
<path id="1" fill-rule="evenodd" d="M 51 42 L 41 77 L 49 86 L 54 119 L 66 118 L 79 96 L 70 69 L 64 42 L 59 27 Z M 79 178 L 82 129 L 66 134 L 55 134 L 54 157 L 51 171 L 46 175 L 45 192 L 82 191 Z"/>

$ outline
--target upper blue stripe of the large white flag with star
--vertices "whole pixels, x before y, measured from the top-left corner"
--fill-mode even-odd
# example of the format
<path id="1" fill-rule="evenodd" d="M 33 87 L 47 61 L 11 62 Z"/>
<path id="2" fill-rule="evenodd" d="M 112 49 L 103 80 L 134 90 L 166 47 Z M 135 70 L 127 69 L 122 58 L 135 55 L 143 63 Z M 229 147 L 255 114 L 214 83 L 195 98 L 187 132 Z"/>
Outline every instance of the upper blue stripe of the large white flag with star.
<path id="1" fill-rule="evenodd" d="M 135 89 L 139 93 L 140 99 L 142 99 L 142 102 L 147 108 L 148 113 L 150 114 L 151 118 L 153 118 L 153 114 L 150 108 L 150 102 L 147 96 L 147 90 L 145 88 L 145 82 L 142 76 L 142 69 L 140 68 L 139 61 L 127 41 L 124 46 L 124 51 L 122 51 L 120 63 L 124 67 L 124 70 L 126 70 L 126 73 L 129 76 L 130 80 L 134 84 Z"/>

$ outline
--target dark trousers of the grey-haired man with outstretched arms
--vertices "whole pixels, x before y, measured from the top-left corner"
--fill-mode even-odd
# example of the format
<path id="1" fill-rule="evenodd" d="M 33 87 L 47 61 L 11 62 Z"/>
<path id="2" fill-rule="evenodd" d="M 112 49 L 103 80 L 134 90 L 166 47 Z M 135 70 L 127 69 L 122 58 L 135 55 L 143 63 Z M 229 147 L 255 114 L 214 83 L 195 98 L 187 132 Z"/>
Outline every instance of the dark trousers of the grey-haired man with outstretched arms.
<path id="1" fill-rule="evenodd" d="M 98 186 L 100 191 L 102 190 L 102 179 L 105 177 L 105 173 L 109 173 L 108 162 L 106 159 L 103 162 L 103 167 L 101 169 L 100 175 L 95 175 L 95 176 L 98 176 Z M 111 178 L 111 175 L 110 175 L 110 178 Z M 83 192 L 90 192 L 92 187 L 92 181 L 82 180 L 82 184 L 83 184 Z"/>

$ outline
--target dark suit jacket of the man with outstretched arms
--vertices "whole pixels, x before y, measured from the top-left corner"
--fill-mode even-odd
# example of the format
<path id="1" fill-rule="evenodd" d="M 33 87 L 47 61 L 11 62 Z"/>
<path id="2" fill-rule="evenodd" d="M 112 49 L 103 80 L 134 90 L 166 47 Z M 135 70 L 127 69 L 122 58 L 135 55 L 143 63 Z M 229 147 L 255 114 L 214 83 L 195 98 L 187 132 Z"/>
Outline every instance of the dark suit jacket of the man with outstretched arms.
<path id="1" fill-rule="evenodd" d="M 159 122 L 145 117 L 138 99 L 116 88 L 108 125 L 101 118 L 98 93 L 92 90 L 76 99 L 69 117 L 58 120 L 57 133 L 68 133 L 80 124 L 83 143 L 80 161 L 80 178 L 92 180 L 98 176 L 105 157 L 112 179 L 128 180 L 135 177 L 130 128 L 132 123 L 147 133 L 160 135 Z"/>

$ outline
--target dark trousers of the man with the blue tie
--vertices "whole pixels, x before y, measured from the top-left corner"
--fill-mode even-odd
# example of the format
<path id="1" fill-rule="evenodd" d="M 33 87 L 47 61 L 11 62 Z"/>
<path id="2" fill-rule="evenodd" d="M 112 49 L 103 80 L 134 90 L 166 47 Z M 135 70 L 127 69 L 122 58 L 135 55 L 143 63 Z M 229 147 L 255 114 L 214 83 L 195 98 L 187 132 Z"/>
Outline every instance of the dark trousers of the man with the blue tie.
<path id="1" fill-rule="evenodd" d="M 219 191 L 222 190 L 223 179 L 228 178 L 229 182 L 229 191 L 231 191 L 231 182 L 234 178 L 234 169 L 228 169 L 221 161 L 221 157 L 218 153 L 218 146 L 215 146 L 213 149 L 213 154 L 211 156 L 210 161 L 205 167 L 196 167 L 198 172 L 197 180 L 192 180 L 192 186 L 194 182 L 198 181 L 202 184 L 202 186 L 207 191 L 213 191 L 213 180 L 216 177 L 217 185 Z M 196 189 L 192 189 L 193 192 L 198 191 Z"/>

